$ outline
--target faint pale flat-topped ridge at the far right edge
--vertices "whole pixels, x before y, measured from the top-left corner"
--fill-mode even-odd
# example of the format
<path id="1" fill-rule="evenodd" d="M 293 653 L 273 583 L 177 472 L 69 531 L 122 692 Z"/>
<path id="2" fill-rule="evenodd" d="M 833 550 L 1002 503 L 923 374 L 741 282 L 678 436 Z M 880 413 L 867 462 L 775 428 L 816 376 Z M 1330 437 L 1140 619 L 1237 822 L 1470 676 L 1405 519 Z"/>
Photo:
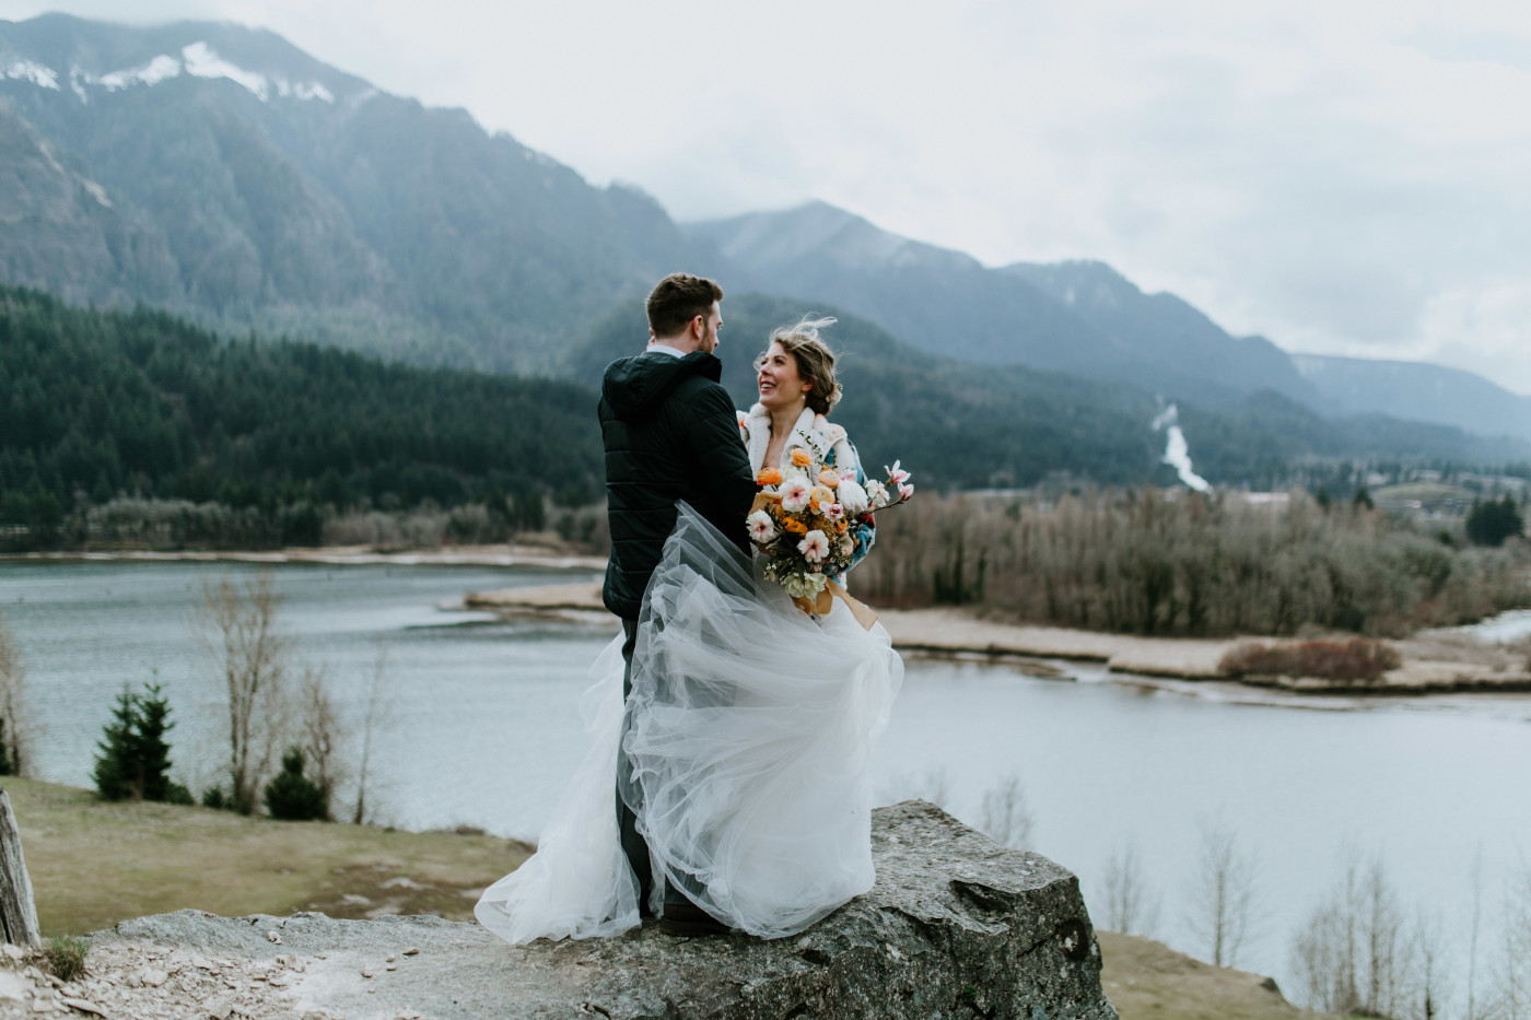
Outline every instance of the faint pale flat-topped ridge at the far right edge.
<path id="1" fill-rule="evenodd" d="M 1531 398 L 1473 372 L 1323 354 L 1294 354 L 1292 363 L 1314 389 L 1347 414 L 1384 414 L 1531 440 Z"/>

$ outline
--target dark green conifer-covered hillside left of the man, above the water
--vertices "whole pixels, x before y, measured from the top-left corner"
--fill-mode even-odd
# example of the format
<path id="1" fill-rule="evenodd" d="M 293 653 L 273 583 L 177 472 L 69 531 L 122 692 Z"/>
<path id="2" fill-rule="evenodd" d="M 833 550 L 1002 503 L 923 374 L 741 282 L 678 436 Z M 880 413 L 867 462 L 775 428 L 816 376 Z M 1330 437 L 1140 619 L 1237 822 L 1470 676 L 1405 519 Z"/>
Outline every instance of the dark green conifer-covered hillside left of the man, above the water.
<path id="1" fill-rule="evenodd" d="M 58 542 L 118 495 L 216 502 L 312 539 L 320 507 L 592 501 L 594 394 L 311 343 L 220 340 L 156 311 L 0 286 L 0 524 Z M 498 493 L 498 495 L 496 495 Z"/>

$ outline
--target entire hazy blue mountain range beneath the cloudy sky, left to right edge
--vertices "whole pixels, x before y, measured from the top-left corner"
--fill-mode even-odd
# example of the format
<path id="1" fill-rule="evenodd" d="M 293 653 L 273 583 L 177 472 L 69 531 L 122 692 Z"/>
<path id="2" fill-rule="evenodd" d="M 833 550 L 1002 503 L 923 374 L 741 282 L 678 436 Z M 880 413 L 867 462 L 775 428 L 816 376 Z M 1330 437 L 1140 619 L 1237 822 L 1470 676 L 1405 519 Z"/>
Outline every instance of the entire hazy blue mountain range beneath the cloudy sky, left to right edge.
<path id="1" fill-rule="evenodd" d="M 1379 409 L 1101 262 L 987 268 L 824 202 L 677 224 L 637 188 L 592 187 L 467 110 L 383 92 L 265 29 L 0 21 L 0 279 L 75 303 L 554 374 L 614 303 L 692 268 L 943 358 L 1202 406 L 1274 389 L 1324 414 Z M 1390 410 L 1494 426 L 1431 400 Z M 1510 432 L 1531 436 L 1531 420 Z"/>

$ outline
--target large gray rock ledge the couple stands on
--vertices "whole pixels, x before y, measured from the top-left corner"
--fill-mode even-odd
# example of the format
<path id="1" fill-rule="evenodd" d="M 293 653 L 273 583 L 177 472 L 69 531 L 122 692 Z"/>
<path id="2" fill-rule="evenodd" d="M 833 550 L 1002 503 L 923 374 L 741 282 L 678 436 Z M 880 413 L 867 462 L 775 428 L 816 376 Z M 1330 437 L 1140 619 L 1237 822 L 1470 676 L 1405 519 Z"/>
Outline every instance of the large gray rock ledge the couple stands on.
<path id="1" fill-rule="evenodd" d="M 1073 875 L 923 801 L 879 809 L 873 847 L 877 885 L 793 939 L 674 939 L 651 922 L 511 946 L 430 916 L 184 910 L 98 933 L 92 971 L 156 979 L 103 976 L 98 1005 L 113 1015 L 141 999 L 161 1015 L 348 1020 L 1116 1018 Z"/>

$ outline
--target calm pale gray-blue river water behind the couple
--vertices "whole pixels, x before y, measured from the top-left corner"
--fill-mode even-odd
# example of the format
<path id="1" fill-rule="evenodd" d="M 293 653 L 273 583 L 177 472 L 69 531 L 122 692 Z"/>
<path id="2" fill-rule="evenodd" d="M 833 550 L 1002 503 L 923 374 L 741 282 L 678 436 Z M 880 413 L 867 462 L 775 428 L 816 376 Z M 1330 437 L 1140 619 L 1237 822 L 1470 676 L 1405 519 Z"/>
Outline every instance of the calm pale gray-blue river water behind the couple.
<path id="1" fill-rule="evenodd" d="M 220 689 L 193 610 L 207 580 L 254 570 L 0 564 L 0 613 L 20 637 L 43 727 L 38 775 L 89 786 L 112 698 L 124 683 L 158 680 L 179 720 L 178 770 L 193 789 L 216 781 L 227 750 Z M 583 750 L 579 694 L 615 626 L 502 622 L 452 606 L 470 590 L 582 577 L 594 579 L 522 568 L 276 568 L 299 654 L 328 671 L 352 718 L 386 654 L 369 790 L 380 821 L 536 838 Z M 1162 896 L 1157 934 L 1188 951 L 1199 946 L 1179 904 L 1194 879 L 1197 827 L 1220 819 L 1258 862 L 1262 907 L 1240 962 L 1278 977 L 1291 933 L 1344 853 L 1382 853 L 1395 884 L 1451 927 L 1471 896 L 1474 859 L 1494 904 L 1510 868 L 1531 855 L 1531 698 L 1260 705 L 1208 688 L 1139 688 L 1078 663 L 1064 669 L 1079 682 L 911 659 L 874 763 L 883 799 L 945 790 L 946 806 L 977 822 L 983 795 L 1017 775 L 1035 848 L 1075 870 L 1089 897 L 1113 850 L 1134 844 Z"/>

